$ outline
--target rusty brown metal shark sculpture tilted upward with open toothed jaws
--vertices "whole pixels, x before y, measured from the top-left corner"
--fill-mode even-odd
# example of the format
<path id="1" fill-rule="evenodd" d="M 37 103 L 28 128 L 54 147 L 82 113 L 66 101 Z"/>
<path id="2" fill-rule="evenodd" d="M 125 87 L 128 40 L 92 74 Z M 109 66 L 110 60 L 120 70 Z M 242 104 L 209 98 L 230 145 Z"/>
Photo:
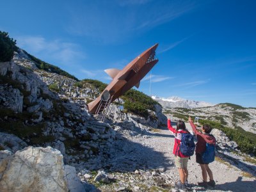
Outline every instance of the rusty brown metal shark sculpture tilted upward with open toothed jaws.
<path id="1" fill-rule="evenodd" d="M 90 113 L 100 113 L 113 100 L 124 95 L 132 86 L 139 88 L 140 80 L 151 70 L 157 63 L 155 58 L 157 45 L 154 45 L 136 57 L 131 63 L 125 66 L 123 70 L 116 68 L 106 69 L 105 72 L 113 78 L 106 89 L 88 104 Z"/>

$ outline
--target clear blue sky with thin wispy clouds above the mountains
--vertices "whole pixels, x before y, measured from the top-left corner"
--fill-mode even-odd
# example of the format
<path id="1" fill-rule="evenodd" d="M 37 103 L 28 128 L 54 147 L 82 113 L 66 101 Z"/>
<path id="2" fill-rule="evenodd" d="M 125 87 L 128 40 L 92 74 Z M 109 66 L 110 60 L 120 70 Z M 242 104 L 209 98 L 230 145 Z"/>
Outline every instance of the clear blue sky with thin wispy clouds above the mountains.
<path id="1" fill-rule="evenodd" d="M 256 107 L 256 1 L 2 1 L 0 30 L 79 79 L 109 83 L 159 43 L 152 95 Z M 149 75 L 149 74 L 148 74 Z M 149 78 L 140 90 L 149 94 Z"/>

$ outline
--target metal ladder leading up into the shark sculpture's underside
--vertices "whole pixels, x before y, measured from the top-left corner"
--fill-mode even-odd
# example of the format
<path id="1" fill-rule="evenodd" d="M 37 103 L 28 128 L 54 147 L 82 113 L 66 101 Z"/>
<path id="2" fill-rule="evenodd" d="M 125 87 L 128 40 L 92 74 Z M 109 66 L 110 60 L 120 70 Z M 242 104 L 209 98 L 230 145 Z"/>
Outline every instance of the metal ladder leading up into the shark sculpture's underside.
<path id="1" fill-rule="evenodd" d="M 105 121 L 106 116 L 108 114 L 109 106 L 111 104 L 112 97 L 113 95 L 112 96 L 109 95 L 107 100 L 100 100 L 100 104 L 95 113 L 95 118 L 97 120 L 100 120 L 102 122 Z"/>

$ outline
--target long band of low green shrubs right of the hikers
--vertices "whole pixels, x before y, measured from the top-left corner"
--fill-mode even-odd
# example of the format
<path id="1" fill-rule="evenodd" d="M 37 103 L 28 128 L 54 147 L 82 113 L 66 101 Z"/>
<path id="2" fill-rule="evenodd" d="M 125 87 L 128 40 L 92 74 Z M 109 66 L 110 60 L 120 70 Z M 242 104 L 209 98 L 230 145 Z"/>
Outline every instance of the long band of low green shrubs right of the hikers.
<path id="1" fill-rule="evenodd" d="M 236 141 L 241 152 L 246 154 L 253 154 L 256 156 L 256 134 L 248 131 L 242 131 L 237 127 L 237 129 L 232 129 L 230 127 L 224 127 L 219 122 L 213 122 L 210 120 L 199 120 L 200 124 L 209 124 L 212 128 L 219 129 L 230 138 L 232 141 Z"/>

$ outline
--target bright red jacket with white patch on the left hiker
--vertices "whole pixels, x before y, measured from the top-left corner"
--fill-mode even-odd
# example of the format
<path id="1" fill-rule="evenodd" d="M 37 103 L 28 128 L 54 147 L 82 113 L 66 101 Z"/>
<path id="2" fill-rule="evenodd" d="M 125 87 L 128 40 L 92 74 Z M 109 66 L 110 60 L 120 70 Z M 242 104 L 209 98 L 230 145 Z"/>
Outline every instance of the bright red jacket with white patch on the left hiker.
<path id="1" fill-rule="evenodd" d="M 184 156 L 180 150 L 179 150 L 179 146 L 180 146 L 180 141 L 181 141 L 181 134 L 182 132 L 187 132 L 187 131 L 182 131 L 182 130 L 179 130 L 177 131 L 176 129 L 174 129 L 171 125 L 171 120 L 168 119 L 167 121 L 167 127 L 170 131 L 173 132 L 173 135 L 175 136 L 175 141 L 174 141 L 174 147 L 173 147 L 173 154 L 175 154 L 175 156 L 179 156 L 179 157 L 189 157 L 189 156 Z M 177 154 L 176 154 L 177 152 Z"/>

